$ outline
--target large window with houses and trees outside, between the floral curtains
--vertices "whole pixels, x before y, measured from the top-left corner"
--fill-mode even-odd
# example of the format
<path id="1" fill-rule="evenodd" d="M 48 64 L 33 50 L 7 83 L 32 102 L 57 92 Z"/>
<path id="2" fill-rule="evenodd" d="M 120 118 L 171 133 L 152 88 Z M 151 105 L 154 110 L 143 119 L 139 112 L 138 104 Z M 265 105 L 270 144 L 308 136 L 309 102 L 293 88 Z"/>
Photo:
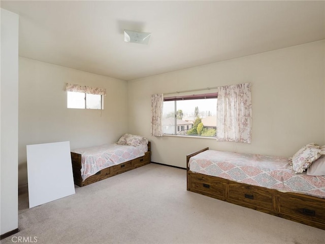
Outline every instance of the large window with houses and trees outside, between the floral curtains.
<path id="1" fill-rule="evenodd" d="M 217 93 L 165 97 L 164 134 L 216 136 Z"/>

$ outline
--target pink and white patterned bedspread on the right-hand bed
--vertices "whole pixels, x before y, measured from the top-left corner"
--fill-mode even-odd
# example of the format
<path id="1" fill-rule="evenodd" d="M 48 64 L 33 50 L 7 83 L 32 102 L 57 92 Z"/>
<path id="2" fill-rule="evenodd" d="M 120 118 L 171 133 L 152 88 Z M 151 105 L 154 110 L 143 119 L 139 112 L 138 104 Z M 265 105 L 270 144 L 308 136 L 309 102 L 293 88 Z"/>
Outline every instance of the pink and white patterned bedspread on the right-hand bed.
<path id="1" fill-rule="evenodd" d="M 325 177 L 295 174 L 287 158 L 207 150 L 189 159 L 189 169 L 254 186 L 325 198 Z"/>

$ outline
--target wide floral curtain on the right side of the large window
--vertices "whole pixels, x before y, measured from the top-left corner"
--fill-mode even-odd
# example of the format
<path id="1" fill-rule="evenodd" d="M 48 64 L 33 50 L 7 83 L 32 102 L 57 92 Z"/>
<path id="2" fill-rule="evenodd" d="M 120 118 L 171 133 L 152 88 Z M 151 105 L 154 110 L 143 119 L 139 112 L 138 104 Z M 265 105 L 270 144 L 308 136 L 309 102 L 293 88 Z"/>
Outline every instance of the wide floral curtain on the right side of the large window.
<path id="1" fill-rule="evenodd" d="M 218 87 L 217 141 L 251 143 L 250 83 Z"/>

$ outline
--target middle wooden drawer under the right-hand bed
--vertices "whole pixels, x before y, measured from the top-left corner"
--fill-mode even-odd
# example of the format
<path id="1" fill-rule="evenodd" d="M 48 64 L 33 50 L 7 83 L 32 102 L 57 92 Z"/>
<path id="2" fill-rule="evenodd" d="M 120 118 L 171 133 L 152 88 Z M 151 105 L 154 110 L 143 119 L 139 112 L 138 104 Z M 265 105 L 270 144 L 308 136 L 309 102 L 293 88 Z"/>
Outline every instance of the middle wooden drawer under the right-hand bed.
<path id="1" fill-rule="evenodd" d="M 230 183 L 229 198 L 272 210 L 272 195 L 254 186 Z"/>

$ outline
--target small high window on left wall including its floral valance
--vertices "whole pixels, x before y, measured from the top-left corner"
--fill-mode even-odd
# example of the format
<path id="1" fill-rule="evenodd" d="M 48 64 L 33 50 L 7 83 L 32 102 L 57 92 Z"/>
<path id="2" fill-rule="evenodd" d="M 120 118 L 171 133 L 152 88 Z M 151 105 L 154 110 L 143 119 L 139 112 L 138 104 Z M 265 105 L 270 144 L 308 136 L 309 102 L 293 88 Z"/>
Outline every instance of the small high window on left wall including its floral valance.
<path id="1" fill-rule="evenodd" d="M 67 108 L 104 109 L 106 89 L 67 84 Z"/>

